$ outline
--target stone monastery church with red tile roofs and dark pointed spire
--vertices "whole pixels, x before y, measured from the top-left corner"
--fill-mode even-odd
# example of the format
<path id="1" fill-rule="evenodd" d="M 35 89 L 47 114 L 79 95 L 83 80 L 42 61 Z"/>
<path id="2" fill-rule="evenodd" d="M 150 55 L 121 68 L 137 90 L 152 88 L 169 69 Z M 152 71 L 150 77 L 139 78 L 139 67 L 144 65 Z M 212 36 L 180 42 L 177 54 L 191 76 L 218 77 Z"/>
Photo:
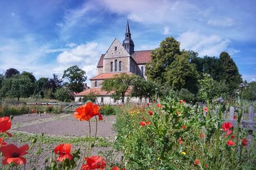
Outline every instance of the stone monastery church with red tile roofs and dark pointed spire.
<path id="1" fill-rule="evenodd" d="M 101 90 L 101 83 L 105 79 L 113 78 L 114 75 L 120 73 L 137 74 L 146 78 L 145 67 L 151 60 L 150 55 L 151 50 L 134 51 L 134 43 L 127 21 L 123 43 L 121 44 L 120 41 L 115 38 L 106 53 L 100 56 L 97 64 L 97 75 L 90 79 L 91 88 L 77 93 L 77 95 L 75 95 L 75 102 L 80 102 L 84 96 L 95 93 L 97 95 L 97 102 L 99 103 L 120 103 L 120 101 L 115 101 L 111 98 L 111 93 Z M 128 95 L 129 92 L 125 93 L 124 102 L 139 101 L 138 98 L 131 98 Z"/>

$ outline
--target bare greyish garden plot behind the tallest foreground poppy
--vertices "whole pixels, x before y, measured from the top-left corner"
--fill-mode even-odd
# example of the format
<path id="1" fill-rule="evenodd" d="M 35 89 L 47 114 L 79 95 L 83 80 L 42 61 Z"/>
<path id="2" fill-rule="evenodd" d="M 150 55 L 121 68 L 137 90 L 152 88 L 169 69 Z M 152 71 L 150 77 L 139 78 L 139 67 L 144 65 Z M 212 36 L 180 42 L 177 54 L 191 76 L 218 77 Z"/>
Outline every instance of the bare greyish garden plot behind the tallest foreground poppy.
<path id="1" fill-rule="evenodd" d="M 103 116 L 103 121 L 98 121 L 97 136 L 114 138 L 113 130 L 115 116 Z M 19 115 L 12 121 L 12 130 L 31 134 L 49 134 L 57 136 L 85 136 L 89 135 L 89 123 L 78 121 L 72 114 L 50 115 Z M 91 119 L 91 131 L 95 134 L 96 121 Z"/>

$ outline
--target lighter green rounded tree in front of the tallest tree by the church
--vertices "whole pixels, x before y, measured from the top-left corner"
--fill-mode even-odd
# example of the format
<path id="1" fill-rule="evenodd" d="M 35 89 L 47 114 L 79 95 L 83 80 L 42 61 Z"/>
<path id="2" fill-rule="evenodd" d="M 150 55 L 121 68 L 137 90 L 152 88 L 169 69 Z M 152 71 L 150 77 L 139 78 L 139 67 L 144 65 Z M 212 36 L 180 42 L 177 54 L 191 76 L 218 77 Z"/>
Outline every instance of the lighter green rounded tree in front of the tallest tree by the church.
<path id="1" fill-rule="evenodd" d="M 182 54 L 176 54 L 173 63 L 166 72 L 166 83 L 175 91 L 181 88 L 187 88 L 190 92 L 197 92 L 198 72 L 196 65 L 189 63 L 189 54 L 183 51 Z"/>

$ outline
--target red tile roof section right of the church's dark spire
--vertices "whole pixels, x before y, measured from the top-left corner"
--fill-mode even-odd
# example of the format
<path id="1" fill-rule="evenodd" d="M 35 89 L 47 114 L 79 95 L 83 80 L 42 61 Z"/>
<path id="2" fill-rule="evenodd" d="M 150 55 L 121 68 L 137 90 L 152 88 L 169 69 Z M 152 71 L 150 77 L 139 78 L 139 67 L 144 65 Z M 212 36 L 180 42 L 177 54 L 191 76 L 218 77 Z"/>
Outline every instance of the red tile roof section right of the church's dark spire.
<path id="1" fill-rule="evenodd" d="M 151 61 L 151 51 L 152 50 L 134 51 L 132 58 L 137 64 L 149 63 Z"/>

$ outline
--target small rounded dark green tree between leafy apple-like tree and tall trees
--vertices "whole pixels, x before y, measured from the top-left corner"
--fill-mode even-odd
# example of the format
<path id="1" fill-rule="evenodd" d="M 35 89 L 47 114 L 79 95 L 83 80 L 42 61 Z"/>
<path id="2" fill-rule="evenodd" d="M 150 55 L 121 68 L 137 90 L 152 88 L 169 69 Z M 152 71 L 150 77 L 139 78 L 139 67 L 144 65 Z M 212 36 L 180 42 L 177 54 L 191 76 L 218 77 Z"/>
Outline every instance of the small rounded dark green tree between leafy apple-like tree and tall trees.
<path id="1" fill-rule="evenodd" d="M 132 84 L 133 88 L 131 96 L 138 97 L 140 99 L 148 98 L 149 100 L 152 100 L 152 97 L 156 95 L 157 89 L 159 88 L 155 82 L 146 81 L 146 79 L 141 77 L 134 79 Z"/>

